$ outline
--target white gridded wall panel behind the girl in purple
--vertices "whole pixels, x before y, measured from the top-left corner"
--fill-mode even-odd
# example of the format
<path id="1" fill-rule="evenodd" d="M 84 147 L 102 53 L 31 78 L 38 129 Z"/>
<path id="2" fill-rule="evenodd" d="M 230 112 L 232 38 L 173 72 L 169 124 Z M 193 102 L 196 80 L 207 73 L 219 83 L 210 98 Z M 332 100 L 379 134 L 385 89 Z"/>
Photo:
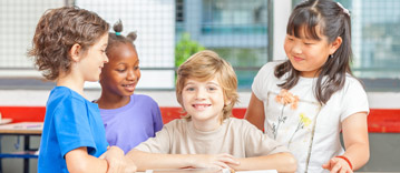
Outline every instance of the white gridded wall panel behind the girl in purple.
<path id="1" fill-rule="evenodd" d="M 175 67 L 175 0 L 76 0 L 76 6 L 95 11 L 111 26 L 123 21 L 126 35 L 137 32 L 135 45 L 140 68 Z M 111 30 L 113 32 L 113 30 Z M 172 89 L 174 70 L 142 70 L 137 88 Z M 155 82 L 157 81 L 157 82 Z M 97 82 L 87 88 L 100 88 Z"/>

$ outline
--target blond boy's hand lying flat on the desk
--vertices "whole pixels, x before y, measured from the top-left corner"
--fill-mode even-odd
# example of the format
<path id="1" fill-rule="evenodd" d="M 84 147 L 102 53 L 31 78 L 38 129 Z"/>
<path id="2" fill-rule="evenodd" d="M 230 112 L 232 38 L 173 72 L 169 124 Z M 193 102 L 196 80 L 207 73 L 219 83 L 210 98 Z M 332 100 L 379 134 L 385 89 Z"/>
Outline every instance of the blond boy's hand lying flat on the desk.
<path id="1" fill-rule="evenodd" d="M 217 167 L 217 169 L 230 169 L 228 164 L 238 165 L 240 162 L 231 154 L 216 154 L 216 155 L 206 155 L 206 154 L 195 154 L 191 155 L 194 159 L 189 159 L 191 165 L 193 167 Z"/>

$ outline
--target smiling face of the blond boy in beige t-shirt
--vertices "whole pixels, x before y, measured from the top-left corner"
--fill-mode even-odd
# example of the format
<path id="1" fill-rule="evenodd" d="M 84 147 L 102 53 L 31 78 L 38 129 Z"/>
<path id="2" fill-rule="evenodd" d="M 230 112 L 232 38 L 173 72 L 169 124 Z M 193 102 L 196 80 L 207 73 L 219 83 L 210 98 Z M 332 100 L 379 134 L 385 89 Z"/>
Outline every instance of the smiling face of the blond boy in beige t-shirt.
<path id="1" fill-rule="evenodd" d="M 183 105 L 194 122 L 221 123 L 224 93 L 217 78 L 207 81 L 187 79 L 182 91 Z"/>

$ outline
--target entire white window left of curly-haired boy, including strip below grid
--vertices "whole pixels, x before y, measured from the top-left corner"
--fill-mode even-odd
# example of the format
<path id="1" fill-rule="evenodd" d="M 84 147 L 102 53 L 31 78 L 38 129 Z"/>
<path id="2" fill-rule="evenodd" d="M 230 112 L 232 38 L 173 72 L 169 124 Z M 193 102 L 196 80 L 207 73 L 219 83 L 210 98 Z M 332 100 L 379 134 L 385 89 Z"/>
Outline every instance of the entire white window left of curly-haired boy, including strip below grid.
<path id="1" fill-rule="evenodd" d="M 38 80 L 41 74 L 27 58 L 36 24 L 50 8 L 66 1 L 0 1 L 0 89 L 49 89 L 53 82 Z"/>

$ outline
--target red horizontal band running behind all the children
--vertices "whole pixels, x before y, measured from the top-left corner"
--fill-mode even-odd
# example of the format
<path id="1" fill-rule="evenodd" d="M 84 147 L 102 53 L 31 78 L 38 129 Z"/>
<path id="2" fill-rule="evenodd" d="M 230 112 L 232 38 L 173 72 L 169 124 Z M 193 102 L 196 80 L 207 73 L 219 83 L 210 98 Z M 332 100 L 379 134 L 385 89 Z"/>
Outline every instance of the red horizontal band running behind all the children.
<path id="1" fill-rule="evenodd" d="M 163 121 L 167 123 L 182 115 L 181 108 L 160 108 Z M 0 106 L 2 118 L 12 119 L 13 122 L 42 122 L 45 106 Z M 233 109 L 235 118 L 243 119 L 245 108 Z M 370 133 L 400 133 L 400 109 L 371 109 L 368 116 L 368 130 Z"/>

